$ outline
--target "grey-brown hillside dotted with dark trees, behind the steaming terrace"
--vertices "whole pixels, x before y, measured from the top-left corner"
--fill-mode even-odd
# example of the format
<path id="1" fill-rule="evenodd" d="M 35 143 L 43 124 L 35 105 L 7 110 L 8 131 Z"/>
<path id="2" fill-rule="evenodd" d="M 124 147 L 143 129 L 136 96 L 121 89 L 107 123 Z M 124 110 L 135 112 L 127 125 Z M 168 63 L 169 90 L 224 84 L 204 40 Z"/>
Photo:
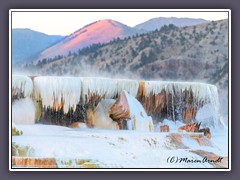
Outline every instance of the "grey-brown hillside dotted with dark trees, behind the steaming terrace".
<path id="1" fill-rule="evenodd" d="M 33 75 L 105 76 L 215 84 L 228 111 L 228 20 L 159 30 L 27 65 Z"/>

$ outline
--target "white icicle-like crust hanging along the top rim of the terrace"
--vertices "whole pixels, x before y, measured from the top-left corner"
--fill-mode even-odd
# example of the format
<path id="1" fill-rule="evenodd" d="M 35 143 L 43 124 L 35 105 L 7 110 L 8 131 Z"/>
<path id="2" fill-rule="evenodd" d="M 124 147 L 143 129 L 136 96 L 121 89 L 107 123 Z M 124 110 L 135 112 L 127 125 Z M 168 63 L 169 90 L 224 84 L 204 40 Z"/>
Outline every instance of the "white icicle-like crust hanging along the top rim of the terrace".
<path id="1" fill-rule="evenodd" d="M 137 80 L 128 79 L 111 79 L 97 77 L 55 77 L 41 76 L 34 78 L 34 91 L 36 98 L 39 95 L 47 106 L 53 104 L 54 99 L 61 100 L 64 96 L 66 105 L 76 105 L 76 101 L 80 96 L 85 98 L 89 93 L 96 93 L 105 98 L 113 98 L 121 91 L 125 90 L 130 95 L 136 97 L 139 84 Z M 26 96 L 33 93 L 33 83 L 28 76 L 13 75 L 12 88 L 22 88 Z M 212 97 L 212 103 L 217 105 L 218 93 L 217 87 L 205 83 L 196 82 L 164 82 L 164 81 L 145 81 L 146 96 L 152 92 L 158 94 L 162 90 L 183 92 L 184 90 L 192 90 L 193 95 L 199 99 Z M 46 99 L 51 99 L 49 100 Z"/>

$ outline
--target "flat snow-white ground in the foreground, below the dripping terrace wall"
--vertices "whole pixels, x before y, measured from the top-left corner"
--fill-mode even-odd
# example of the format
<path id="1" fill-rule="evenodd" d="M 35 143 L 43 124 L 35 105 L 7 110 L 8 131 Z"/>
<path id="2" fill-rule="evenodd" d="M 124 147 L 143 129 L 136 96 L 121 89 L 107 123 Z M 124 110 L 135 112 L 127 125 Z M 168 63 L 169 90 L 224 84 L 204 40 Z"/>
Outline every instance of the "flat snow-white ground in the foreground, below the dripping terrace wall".
<path id="1" fill-rule="evenodd" d="M 171 121 L 162 124 L 170 126 L 170 133 L 177 132 Z M 159 124 L 160 125 L 160 124 Z M 227 133 L 212 132 L 213 146 L 200 146 L 188 133 L 182 133 L 182 142 L 189 148 L 176 148 L 170 141 L 170 133 L 141 132 L 129 130 L 102 130 L 79 128 L 71 129 L 52 125 L 18 125 L 22 136 L 13 136 L 12 143 L 19 147 L 30 147 L 29 156 L 55 158 L 58 167 L 65 166 L 62 161 L 88 160 L 101 168 L 212 168 L 208 163 L 170 163 L 171 157 L 202 160 L 190 150 L 205 150 L 219 156 L 228 156 Z M 175 127 L 175 129 L 174 129 Z"/>

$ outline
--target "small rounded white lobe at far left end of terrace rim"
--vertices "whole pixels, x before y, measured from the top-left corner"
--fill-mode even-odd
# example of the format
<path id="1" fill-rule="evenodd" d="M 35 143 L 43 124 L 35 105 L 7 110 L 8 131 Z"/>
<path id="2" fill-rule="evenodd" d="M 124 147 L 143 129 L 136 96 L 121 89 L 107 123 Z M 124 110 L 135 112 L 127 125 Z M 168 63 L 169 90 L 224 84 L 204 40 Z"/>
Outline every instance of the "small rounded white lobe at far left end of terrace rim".
<path id="1" fill-rule="evenodd" d="M 32 92 L 33 83 L 31 78 L 24 75 L 12 76 L 12 97 L 26 98 L 30 97 Z"/>

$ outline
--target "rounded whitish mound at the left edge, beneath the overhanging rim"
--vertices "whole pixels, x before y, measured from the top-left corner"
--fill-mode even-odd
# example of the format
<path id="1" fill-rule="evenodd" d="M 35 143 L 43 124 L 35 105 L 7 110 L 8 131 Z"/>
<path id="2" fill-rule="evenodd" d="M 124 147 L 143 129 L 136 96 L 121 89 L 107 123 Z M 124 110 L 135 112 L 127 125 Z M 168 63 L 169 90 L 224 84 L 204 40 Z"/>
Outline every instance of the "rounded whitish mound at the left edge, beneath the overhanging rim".
<path id="1" fill-rule="evenodd" d="M 15 124 L 34 124 L 35 105 L 30 98 L 24 98 L 13 102 L 12 121 Z"/>

